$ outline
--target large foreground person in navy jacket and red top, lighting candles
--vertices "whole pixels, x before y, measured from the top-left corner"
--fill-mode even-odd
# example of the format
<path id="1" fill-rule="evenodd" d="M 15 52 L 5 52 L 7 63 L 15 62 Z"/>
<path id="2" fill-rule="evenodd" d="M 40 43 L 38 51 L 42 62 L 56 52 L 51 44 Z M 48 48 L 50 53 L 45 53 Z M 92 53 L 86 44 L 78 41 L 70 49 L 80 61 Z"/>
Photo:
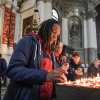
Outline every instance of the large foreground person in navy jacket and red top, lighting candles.
<path id="1" fill-rule="evenodd" d="M 64 69 L 53 69 L 51 55 L 60 35 L 60 25 L 54 19 L 44 21 L 38 35 L 25 36 L 12 54 L 7 75 L 10 84 L 4 100 L 52 100 L 53 81 L 63 81 Z M 41 62 L 46 56 L 50 68 Z M 45 58 L 46 58 L 45 57 Z"/>

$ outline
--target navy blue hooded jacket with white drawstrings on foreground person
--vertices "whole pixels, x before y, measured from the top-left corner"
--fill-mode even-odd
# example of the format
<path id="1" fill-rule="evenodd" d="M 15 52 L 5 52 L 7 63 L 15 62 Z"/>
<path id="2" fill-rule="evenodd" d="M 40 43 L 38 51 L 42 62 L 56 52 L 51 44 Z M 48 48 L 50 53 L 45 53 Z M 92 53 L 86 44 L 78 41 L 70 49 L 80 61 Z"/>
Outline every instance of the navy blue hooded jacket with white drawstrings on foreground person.
<path id="1" fill-rule="evenodd" d="M 32 36 L 24 37 L 12 54 L 7 75 L 10 84 L 4 100 L 39 100 L 39 86 L 47 72 L 39 69 L 40 43 Z"/>

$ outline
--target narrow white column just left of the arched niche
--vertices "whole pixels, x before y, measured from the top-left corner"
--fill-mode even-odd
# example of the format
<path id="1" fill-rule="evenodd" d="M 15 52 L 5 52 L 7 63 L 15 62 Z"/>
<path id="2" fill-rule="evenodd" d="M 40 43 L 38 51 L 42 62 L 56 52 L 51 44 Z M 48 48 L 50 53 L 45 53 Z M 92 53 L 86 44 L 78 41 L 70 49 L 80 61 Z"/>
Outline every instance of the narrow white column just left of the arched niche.
<path id="1" fill-rule="evenodd" d="M 62 18 L 62 41 L 68 45 L 68 19 Z"/>

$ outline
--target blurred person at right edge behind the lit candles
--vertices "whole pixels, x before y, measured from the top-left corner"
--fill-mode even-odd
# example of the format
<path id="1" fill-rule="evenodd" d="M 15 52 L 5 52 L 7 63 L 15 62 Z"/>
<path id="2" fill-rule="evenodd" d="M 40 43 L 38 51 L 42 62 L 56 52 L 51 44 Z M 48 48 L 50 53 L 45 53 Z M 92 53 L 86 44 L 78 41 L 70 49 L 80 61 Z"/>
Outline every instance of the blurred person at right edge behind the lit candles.
<path id="1" fill-rule="evenodd" d="M 95 59 L 88 67 L 87 74 L 88 77 L 96 77 L 97 74 L 100 74 L 100 60 Z"/>

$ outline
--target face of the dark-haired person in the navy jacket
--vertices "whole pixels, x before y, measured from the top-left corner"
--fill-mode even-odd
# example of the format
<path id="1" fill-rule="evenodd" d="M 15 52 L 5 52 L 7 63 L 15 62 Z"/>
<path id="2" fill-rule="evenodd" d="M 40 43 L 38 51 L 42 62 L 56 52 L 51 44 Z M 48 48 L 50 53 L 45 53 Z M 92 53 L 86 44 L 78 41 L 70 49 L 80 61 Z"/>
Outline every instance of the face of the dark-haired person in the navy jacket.
<path id="1" fill-rule="evenodd" d="M 51 36 L 49 37 L 48 40 L 50 45 L 57 43 L 58 37 L 60 36 L 60 32 L 61 32 L 60 25 L 54 24 L 52 27 Z"/>

